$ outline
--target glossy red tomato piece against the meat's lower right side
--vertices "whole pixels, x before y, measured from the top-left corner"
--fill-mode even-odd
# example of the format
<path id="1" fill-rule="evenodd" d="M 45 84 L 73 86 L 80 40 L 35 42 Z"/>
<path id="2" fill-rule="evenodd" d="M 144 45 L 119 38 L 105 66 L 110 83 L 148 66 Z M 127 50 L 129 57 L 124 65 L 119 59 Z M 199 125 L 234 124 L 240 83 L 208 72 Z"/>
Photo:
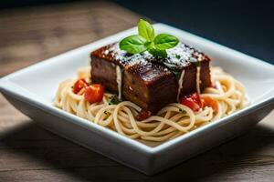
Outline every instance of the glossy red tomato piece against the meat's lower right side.
<path id="1" fill-rule="evenodd" d="M 193 111 L 198 111 L 203 107 L 200 96 L 197 93 L 191 94 L 189 96 L 184 96 L 180 101 L 181 105 L 188 106 Z"/>

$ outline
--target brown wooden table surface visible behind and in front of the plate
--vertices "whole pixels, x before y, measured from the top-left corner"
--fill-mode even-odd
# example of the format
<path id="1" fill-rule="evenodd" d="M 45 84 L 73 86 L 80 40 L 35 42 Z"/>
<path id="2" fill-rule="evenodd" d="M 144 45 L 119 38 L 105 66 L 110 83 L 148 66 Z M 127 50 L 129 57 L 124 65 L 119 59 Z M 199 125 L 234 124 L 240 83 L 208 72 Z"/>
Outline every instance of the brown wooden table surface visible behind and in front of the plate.
<path id="1" fill-rule="evenodd" d="M 0 76 L 136 24 L 108 2 L 0 12 Z M 274 181 L 274 112 L 248 134 L 154 177 L 51 134 L 0 96 L 0 181 Z"/>

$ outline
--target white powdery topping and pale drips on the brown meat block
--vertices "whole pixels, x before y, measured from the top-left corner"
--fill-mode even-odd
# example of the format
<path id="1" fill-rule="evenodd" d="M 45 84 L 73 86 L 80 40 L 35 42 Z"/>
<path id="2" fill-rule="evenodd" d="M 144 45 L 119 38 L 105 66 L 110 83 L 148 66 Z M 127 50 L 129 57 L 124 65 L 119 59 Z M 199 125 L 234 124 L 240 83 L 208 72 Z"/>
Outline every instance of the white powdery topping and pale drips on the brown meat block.
<path id="1" fill-rule="evenodd" d="M 172 71 L 179 73 L 176 76 L 178 82 L 178 93 L 177 93 L 177 100 L 180 96 L 180 91 L 183 89 L 183 80 L 184 80 L 184 66 L 193 63 L 193 59 L 196 57 L 200 59 L 203 56 L 203 53 L 196 51 L 194 48 L 184 45 L 183 43 L 179 43 L 178 45 L 174 46 L 174 48 L 167 50 L 167 57 L 160 58 L 154 57 L 147 51 L 141 54 L 130 55 L 125 51 L 119 48 L 119 44 L 112 44 L 107 47 L 105 51 L 103 51 L 103 57 L 111 56 L 111 59 L 116 64 L 116 82 L 118 87 L 118 97 L 121 99 L 121 86 L 122 86 L 122 73 L 124 68 L 134 67 L 136 73 L 149 71 L 152 67 L 152 63 L 160 64 L 161 66 L 165 67 L 165 71 Z M 190 58 L 192 62 L 190 62 Z M 200 60 L 195 60 L 200 61 Z M 137 66 L 138 65 L 138 66 Z M 136 68 L 138 67 L 138 69 Z M 199 67 L 197 67 L 196 73 L 196 89 L 200 92 L 199 84 Z M 155 72 L 152 72 L 155 73 Z M 151 80 L 150 78 L 155 76 L 150 74 L 145 74 L 145 80 Z"/>

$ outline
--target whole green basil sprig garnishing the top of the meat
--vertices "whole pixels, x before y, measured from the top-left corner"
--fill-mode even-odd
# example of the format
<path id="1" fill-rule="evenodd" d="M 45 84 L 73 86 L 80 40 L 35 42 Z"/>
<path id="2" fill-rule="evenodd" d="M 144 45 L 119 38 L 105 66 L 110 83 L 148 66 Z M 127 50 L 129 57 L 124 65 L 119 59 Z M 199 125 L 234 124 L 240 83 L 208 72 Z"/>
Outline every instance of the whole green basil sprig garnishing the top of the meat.
<path id="1" fill-rule="evenodd" d="M 148 51 L 153 56 L 166 57 L 166 49 L 172 48 L 179 43 L 174 35 L 159 34 L 155 36 L 153 25 L 140 19 L 138 34 L 130 35 L 120 42 L 120 49 L 130 54 Z"/>

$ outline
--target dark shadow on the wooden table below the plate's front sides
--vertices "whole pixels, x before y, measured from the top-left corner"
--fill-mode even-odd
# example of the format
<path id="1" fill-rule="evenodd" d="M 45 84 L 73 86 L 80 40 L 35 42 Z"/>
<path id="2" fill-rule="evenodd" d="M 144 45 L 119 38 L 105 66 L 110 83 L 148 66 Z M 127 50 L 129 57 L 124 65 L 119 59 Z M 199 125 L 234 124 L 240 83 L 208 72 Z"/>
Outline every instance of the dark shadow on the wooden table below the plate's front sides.
<path id="1" fill-rule="evenodd" d="M 16 176 L 21 174 L 22 180 L 37 179 L 37 176 L 92 181 L 216 179 L 216 173 L 220 176 L 238 168 L 267 163 L 268 155 L 266 161 L 261 161 L 257 154 L 273 145 L 273 133 L 272 128 L 257 125 L 248 134 L 149 177 L 28 122 L 27 126 L 11 131 L 0 140 L 0 149 L 5 153 L 5 158 L 0 159 L 6 161 L 0 168 L 0 178 L 1 171 L 11 175 L 16 171 Z"/>

